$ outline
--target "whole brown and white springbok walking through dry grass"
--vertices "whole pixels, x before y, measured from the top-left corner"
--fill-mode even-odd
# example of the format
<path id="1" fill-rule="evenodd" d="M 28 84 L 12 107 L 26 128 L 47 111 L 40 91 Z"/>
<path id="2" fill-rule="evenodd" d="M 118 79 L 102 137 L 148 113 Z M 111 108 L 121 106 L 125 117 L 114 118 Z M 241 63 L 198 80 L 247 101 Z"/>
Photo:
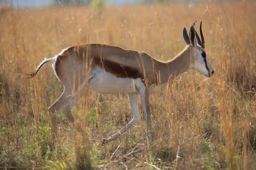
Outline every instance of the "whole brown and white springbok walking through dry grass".
<path id="1" fill-rule="evenodd" d="M 33 78 L 42 65 L 53 61 L 55 75 L 64 86 L 61 96 L 48 109 L 52 139 L 57 136 L 58 112 L 62 111 L 72 124 L 75 122 L 71 108 L 76 96 L 87 85 L 91 90 L 102 94 L 127 93 L 134 114 L 131 122 L 108 139 L 103 138 L 102 144 L 116 139 L 139 121 L 139 94 L 148 126 L 148 136 L 152 140 L 149 92 L 191 69 L 199 71 L 205 77 L 212 77 L 214 73 L 204 49 L 202 21 L 201 40 L 194 25 L 195 23 L 190 27 L 189 35 L 186 28 L 183 28 L 186 48 L 168 62 L 154 59 L 145 52 L 125 50 L 112 45 L 87 44 L 66 48 L 55 57 L 44 59 L 34 72 L 25 74 L 26 78 Z"/>

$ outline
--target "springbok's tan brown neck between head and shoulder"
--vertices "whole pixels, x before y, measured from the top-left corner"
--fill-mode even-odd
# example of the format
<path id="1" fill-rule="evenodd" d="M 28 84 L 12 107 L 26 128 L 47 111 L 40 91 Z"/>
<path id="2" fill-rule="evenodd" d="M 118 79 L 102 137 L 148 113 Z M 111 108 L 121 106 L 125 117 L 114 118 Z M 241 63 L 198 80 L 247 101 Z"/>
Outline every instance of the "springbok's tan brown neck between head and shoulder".
<path id="1" fill-rule="evenodd" d="M 190 46 L 187 46 L 180 54 L 168 62 L 162 62 L 160 67 L 161 84 L 166 84 L 168 81 L 179 77 L 181 74 L 189 71 L 191 64 Z"/>

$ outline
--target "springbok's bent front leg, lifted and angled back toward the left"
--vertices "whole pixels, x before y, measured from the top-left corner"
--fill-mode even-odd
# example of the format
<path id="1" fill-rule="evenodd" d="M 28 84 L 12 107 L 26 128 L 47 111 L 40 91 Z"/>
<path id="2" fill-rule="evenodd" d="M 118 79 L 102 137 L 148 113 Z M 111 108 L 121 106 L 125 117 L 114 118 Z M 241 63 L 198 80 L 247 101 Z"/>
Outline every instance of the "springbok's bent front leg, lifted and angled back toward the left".
<path id="1" fill-rule="evenodd" d="M 129 102 L 130 102 L 130 105 L 131 105 L 132 112 L 134 114 L 133 119 L 131 120 L 131 122 L 129 122 L 125 127 L 123 127 L 116 134 L 110 136 L 108 139 L 103 138 L 101 140 L 102 144 L 107 144 L 108 142 L 111 142 L 111 141 L 115 140 L 118 136 L 120 136 L 122 133 L 124 133 L 125 130 L 127 130 L 129 127 L 131 127 L 131 125 L 134 125 L 135 123 L 137 123 L 140 120 L 139 105 L 138 105 L 138 94 L 136 94 L 136 93 L 128 94 L 128 98 L 129 98 Z"/>

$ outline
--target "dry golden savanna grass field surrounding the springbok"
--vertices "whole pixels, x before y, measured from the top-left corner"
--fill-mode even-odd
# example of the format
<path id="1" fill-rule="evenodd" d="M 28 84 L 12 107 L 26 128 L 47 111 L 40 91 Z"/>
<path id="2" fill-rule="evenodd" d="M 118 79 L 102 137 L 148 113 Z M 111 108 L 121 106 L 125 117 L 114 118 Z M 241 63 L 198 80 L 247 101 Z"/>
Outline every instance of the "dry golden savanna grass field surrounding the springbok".
<path id="1" fill-rule="evenodd" d="M 58 6 L 0 14 L 0 167 L 35 169 L 255 169 L 256 2 Z M 63 87 L 47 63 L 71 45 L 104 43 L 167 61 L 184 47 L 182 29 L 203 21 L 212 78 L 189 71 L 151 93 L 154 141 L 141 120 L 106 145 L 132 119 L 126 94 L 84 89 L 72 112 L 81 136 L 58 114 L 52 147 L 48 107 Z M 196 24 L 199 30 L 199 22 Z M 52 148 L 54 148 L 52 150 Z"/>

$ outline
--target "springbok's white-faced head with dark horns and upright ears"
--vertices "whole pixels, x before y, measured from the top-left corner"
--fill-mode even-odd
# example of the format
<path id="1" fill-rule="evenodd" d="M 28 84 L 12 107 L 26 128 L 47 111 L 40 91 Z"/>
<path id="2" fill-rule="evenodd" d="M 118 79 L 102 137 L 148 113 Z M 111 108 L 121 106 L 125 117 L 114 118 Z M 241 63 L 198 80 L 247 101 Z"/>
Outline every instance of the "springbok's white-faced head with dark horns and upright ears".
<path id="1" fill-rule="evenodd" d="M 196 22 L 196 21 L 195 21 Z M 201 40 L 198 36 L 197 32 L 195 31 L 195 23 L 189 29 L 189 35 L 186 31 L 186 28 L 183 28 L 183 39 L 186 45 L 189 45 L 191 48 L 191 64 L 189 69 L 193 69 L 198 71 L 199 73 L 203 74 L 205 77 L 212 77 L 214 73 L 214 69 L 210 65 L 207 57 L 206 51 L 204 49 L 204 35 L 202 31 L 202 21 L 200 23 L 200 34 Z M 198 41 L 198 44 L 196 42 Z"/>

